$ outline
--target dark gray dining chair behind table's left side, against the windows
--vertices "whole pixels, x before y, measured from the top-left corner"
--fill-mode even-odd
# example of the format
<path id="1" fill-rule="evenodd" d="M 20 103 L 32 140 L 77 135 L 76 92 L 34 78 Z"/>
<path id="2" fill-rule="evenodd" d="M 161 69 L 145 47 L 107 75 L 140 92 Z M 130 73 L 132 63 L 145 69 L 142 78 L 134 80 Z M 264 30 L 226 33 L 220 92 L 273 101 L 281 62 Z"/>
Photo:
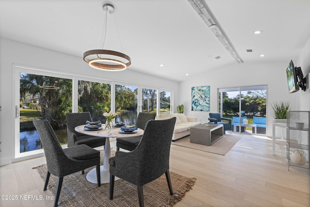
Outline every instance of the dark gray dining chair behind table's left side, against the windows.
<path id="1" fill-rule="evenodd" d="M 66 113 L 68 147 L 86 144 L 94 148 L 105 145 L 106 138 L 85 135 L 74 130 L 74 128 L 79 125 L 85 125 L 86 121 L 92 122 L 92 116 L 89 111 L 80 113 Z"/>

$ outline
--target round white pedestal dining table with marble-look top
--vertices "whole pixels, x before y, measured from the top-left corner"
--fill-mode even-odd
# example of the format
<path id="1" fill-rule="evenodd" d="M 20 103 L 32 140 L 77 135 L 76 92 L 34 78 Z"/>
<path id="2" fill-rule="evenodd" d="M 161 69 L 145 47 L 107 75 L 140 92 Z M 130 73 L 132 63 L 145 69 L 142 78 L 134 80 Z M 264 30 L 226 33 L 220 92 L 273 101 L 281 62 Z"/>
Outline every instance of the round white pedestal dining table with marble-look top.
<path id="1" fill-rule="evenodd" d="M 78 127 L 75 127 L 75 130 L 81 134 L 106 138 L 103 165 L 100 166 L 100 178 L 101 178 L 101 184 L 109 183 L 110 182 L 109 158 L 111 157 L 111 147 L 110 147 L 109 138 L 136 137 L 136 136 L 141 136 L 144 131 L 138 128 L 138 130 L 135 133 L 122 133 L 122 132 L 119 132 L 119 130 L 121 129 L 120 127 L 113 127 L 112 129 L 105 129 L 104 125 L 102 125 L 103 126 L 102 129 L 91 131 L 91 130 L 84 129 L 84 126 L 85 125 L 80 125 Z M 87 173 L 86 179 L 92 183 L 97 183 L 96 168 L 92 169 L 90 172 Z M 119 178 L 115 177 L 115 180 L 117 179 Z"/>

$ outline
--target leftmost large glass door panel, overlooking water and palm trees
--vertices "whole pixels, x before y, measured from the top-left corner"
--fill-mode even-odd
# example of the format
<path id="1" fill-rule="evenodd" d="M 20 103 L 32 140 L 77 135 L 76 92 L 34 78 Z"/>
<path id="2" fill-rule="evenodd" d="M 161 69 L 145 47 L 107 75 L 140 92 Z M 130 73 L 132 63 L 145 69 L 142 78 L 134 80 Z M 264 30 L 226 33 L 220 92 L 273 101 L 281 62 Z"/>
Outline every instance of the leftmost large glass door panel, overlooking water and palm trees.
<path id="1" fill-rule="evenodd" d="M 47 119 L 59 142 L 67 144 L 65 113 L 72 109 L 71 77 L 22 67 L 16 67 L 15 77 L 15 158 L 43 152 L 34 118 Z"/>

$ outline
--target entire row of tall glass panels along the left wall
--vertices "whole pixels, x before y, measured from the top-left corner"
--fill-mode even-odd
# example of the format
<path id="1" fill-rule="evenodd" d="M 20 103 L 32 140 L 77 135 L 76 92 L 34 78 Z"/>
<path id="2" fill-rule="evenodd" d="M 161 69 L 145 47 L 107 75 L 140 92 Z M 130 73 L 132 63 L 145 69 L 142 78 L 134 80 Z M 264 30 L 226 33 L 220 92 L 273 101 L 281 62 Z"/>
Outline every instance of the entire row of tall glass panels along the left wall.
<path id="1" fill-rule="evenodd" d="M 116 122 L 135 124 L 138 112 L 170 113 L 172 91 L 124 84 L 14 64 L 15 158 L 43 153 L 33 118 L 49 120 L 65 147 L 67 112 L 90 111 L 93 121 L 105 122 L 104 112 L 117 112 Z M 46 89 L 39 86 L 55 86 Z M 20 114 L 20 116 L 19 116 Z"/>

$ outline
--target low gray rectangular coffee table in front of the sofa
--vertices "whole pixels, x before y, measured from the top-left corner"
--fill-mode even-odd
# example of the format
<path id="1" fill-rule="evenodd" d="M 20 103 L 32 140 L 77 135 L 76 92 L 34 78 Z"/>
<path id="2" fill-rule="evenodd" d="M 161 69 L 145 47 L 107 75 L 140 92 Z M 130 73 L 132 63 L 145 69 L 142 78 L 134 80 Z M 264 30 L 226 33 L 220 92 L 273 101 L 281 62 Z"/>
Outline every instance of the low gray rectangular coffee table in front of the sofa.
<path id="1" fill-rule="evenodd" d="M 223 137 L 223 125 L 202 124 L 190 127 L 190 142 L 211 146 Z"/>

